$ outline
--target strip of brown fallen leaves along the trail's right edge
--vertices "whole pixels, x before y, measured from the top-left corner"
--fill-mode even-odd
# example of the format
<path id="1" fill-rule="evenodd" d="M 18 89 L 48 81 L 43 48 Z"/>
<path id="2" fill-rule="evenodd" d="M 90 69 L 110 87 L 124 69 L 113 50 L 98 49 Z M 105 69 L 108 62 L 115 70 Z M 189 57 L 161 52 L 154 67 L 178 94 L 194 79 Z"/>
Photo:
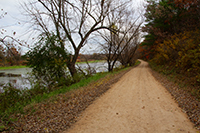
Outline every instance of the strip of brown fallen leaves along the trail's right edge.
<path id="1" fill-rule="evenodd" d="M 188 115 L 188 119 L 200 130 L 200 101 L 189 92 L 184 91 L 177 84 L 170 81 L 167 76 L 152 70 L 152 75 L 159 81 L 174 97 L 182 111 Z"/>

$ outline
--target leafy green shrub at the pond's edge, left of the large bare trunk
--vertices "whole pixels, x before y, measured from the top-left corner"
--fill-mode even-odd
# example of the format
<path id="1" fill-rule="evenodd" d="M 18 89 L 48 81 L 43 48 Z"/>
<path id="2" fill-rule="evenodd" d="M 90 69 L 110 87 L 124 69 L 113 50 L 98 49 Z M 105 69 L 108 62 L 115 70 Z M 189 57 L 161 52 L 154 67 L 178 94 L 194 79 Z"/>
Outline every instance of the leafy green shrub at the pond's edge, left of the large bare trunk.
<path id="1" fill-rule="evenodd" d="M 67 60 L 70 54 L 64 47 L 62 40 L 59 40 L 53 33 L 48 36 L 41 36 L 36 47 L 26 54 L 28 65 L 33 68 L 33 75 L 39 81 L 39 85 L 46 85 L 51 88 L 56 84 L 68 84 L 60 79 L 68 80 Z"/>

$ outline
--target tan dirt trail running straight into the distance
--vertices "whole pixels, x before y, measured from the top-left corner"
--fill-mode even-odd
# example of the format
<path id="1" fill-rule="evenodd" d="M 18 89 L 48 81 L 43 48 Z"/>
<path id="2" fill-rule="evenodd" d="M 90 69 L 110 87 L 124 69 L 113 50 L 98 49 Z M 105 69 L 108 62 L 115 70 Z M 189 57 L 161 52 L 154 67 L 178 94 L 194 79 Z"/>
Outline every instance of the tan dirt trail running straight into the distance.
<path id="1" fill-rule="evenodd" d="M 167 90 L 141 64 L 90 105 L 69 133 L 197 133 Z"/>

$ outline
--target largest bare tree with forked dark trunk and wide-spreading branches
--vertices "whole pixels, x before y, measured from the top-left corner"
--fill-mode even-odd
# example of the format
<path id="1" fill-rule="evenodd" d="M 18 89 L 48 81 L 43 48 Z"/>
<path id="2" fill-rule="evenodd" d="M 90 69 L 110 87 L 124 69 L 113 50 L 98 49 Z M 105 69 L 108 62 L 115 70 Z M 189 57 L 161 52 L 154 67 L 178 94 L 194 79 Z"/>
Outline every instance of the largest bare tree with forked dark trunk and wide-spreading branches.
<path id="1" fill-rule="evenodd" d="M 80 49 L 89 36 L 100 29 L 112 30 L 105 21 L 110 13 L 120 10 L 129 1 L 123 0 L 35 0 L 23 8 L 39 32 L 49 36 L 54 32 L 62 48 L 73 49 L 67 67 L 72 76 L 77 72 L 75 63 Z"/>

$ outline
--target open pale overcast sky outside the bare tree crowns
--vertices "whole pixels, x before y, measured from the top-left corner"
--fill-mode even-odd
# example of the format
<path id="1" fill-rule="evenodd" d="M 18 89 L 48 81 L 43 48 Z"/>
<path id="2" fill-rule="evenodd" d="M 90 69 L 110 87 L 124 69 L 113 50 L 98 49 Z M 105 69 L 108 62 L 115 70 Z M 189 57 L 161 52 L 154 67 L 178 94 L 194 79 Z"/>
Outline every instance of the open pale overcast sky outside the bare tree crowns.
<path id="1" fill-rule="evenodd" d="M 13 36 L 15 32 L 15 38 L 20 40 L 25 40 L 30 42 L 31 37 L 28 31 L 33 29 L 28 29 L 26 24 L 26 18 L 22 15 L 23 10 L 20 3 L 27 0 L 0 0 L 0 15 L 7 13 L 4 17 L 0 19 L 0 38 L 5 35 Z M 141 6 L 144 0 L 133 0 L 133 7 Z M 2 34 L 3 33 L 3 34 Z M 95 49 L 95 48 L 94 48 Z M 87 51 L 85 48 L 84 51 Z M 27 49 L 23 49 L 26 52 Z"/>

